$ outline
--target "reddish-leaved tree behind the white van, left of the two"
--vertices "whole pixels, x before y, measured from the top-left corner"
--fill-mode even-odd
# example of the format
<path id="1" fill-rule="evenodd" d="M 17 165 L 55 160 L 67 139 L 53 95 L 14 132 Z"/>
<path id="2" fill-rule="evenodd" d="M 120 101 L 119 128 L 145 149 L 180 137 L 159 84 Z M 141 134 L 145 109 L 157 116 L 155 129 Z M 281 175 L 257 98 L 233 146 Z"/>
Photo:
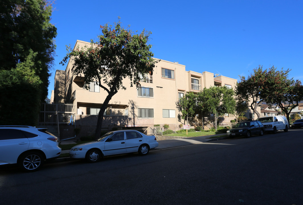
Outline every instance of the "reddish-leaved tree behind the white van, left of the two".
<path id="1" fill-rule="evenodd" d="M 257 107 L 264 102 L 261 93 L 268 88 L 266 73 L 267 69 L 263 71 L 263 67 L 259 65 L 259 68 L 255 68 L 254 73 L 248 76 L 247 79 L 245 79 L 244 76 L 239 76 L 240 82 L 237 82 L 236 94 L 247 103 L 247 106 L 250 107 L 258 117 L 261 117 L 261 114 L 257 111 Z"/>

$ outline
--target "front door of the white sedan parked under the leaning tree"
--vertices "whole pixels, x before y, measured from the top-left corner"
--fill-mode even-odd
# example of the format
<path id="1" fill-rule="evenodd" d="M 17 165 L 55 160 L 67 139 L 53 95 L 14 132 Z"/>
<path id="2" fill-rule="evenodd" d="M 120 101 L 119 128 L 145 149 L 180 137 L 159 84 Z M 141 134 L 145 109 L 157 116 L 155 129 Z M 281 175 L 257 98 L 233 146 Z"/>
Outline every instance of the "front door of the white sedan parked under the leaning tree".
<path id="1" fill-rule="evenodd" d="M 115 132 L 104 143 L 105 155 L 122 154 L 126 152 L 124 131 Z"/>

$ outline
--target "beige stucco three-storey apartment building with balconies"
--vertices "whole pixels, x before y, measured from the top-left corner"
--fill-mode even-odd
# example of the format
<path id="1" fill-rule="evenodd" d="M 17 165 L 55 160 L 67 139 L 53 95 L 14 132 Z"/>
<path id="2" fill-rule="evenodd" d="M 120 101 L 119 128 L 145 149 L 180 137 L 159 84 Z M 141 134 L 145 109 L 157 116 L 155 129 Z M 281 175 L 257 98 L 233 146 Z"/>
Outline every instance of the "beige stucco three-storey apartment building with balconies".
<path id="1" fill-rule="evenodd" d="M 75 47 L 90 44 L 77 40 Z M 157 59 L 159 60 L 159 59 Z M 58 72 L 58 73 L 57 73 Z M 69 60 L 65 74 L 57 71 L 55 75 L 54 103 L 75 104 L 75 124 L 87 134 L 95 131 L 98 112 L 107 96 L 107 92 L 94 83 L 85 89 L 85 82 L 72 74 L 72 59 Z M 186 92 L 198 93 L 210 86 L 228 86 L 235 88 L 236 79 L 215 76 L 211 72 L 198 73 L 186 71 L 185 65 L 160 60 L 153 75 L 142 74 L 141 87 L 130 87 L 130 80 L 124 79 L 126 90 L 119 90 L 108 104 L 102 127 L 152 127 L 155 124 L 168 124 L 170 129 L 179 129 L 176 101 Z M 64 87 L 62 86 L 64 84 Z M 60 87 L 61 85 L 61 87 Z M 57 86 L 57 88 L 56 88 Z M 63 95 L 59 93 L 64 93 Z M 61 97 L 61 98 L 60 98 Z M 226 115 L 225 121 L 233 120 L 233 115 Z"/>

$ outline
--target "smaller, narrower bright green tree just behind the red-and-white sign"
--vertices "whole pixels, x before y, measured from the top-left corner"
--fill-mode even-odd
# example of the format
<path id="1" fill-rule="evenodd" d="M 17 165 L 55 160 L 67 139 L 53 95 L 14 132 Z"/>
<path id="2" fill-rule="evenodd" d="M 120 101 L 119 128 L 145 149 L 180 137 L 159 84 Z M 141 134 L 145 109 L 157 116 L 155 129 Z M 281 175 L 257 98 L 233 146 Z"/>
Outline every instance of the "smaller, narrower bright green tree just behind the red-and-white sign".
<path id="1" fill-rule="evenodd" d="M 197 95 L 193 92 L 186 93 L 179 101 L 176 102 L 177 109 L 182 113 L 180 118 L 186 117 L 186 123 L 188 124 L 188 117 L 193 117 L 197 107 Z M 180 120 L 181 122 L 181 120 Z"/>

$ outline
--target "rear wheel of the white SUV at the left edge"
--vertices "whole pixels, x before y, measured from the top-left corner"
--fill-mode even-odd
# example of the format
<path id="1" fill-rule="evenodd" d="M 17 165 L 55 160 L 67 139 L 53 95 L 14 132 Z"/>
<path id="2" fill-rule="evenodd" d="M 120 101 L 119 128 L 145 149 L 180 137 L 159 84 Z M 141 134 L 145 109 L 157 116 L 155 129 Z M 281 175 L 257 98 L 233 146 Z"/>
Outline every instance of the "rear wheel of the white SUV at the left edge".
<path id="1" fill-rule="evenodd" d="M 18 162 L 22 170 L 27 172 L 37 171 L 42 167 L 43 156 L 38 152 L 28 152 L 23 154 Z"/>

